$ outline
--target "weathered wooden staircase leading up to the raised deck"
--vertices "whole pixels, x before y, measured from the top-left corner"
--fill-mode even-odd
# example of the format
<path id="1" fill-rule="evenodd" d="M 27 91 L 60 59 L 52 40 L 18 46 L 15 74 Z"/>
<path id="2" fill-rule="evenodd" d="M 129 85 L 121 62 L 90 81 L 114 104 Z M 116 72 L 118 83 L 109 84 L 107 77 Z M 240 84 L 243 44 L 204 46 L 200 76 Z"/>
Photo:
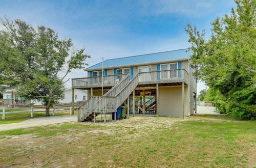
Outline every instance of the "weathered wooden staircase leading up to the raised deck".
<path id="1" fill-rule="evenodd" d="M 93 113 L 99 115 L 115 112 L 137 85 L 138 74 L 132 80 L 130 80 L 130 74 L 127 74 L 103 96 L 91 96 L 78 107 L 78 122 L 92 120 Z"/>

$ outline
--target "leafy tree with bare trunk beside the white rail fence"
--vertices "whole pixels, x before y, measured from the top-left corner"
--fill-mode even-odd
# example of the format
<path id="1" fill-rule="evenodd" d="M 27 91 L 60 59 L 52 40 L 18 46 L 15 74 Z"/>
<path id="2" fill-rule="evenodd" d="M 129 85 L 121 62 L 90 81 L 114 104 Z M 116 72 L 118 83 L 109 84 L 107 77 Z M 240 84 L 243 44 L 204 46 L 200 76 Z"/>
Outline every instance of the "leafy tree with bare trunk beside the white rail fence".
<path id="1" fill-rule="evenodd" d="M 67 74 L 72 69 L 83 69 L 90 55 L 84 54 L 84 49 L 75 50 L 72 39 L 59 39 L 44 25 L 34 29 L 23 20 L 7 18 L 1 19 L 1 24 L 4 29 L 0 31 L 0 53 L 6 52 L 2 53 L 5 60 L 0 64 L 12 66 L 5 66 L 1 76 L 6 81 L 0 84 L 17 86 L 26 99 L 42 101 L 49 116 L 50 107 L 63 99 Z"/>

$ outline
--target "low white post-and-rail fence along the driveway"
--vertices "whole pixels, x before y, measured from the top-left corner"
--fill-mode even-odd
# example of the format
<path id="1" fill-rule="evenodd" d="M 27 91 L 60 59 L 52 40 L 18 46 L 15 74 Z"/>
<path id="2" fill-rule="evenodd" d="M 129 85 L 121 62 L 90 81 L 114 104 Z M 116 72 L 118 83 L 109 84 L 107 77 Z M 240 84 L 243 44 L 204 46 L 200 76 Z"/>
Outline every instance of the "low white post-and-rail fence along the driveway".
<path id="1" fill-rule="evenodd" d="M 0 108 L 3 110 L 3 112 L 0 112 L 0 115 L 2 116 L 2 120 L 5 120 L 5 115 L 7 114 L 17 114 L 17 113 L 30 113 L 30 117 L 33 117 L 33 113 L 37 112 L 45 112 L 46 110 L 34 110 L 36 108 L 44 108 L 44 107 L 31 107 L 30 110 L 24 110 L 24 111 L 6 111 L 6 109 L 24 109 L 24 108 Z M 52 109 L 52 115 L 55 115 L 56 111 L 65 111 L 63 109 L 56 109 L 56 107 L 53 107 Z M 51 112 L 51 110 L 50 110 Z M 72 107 L 70 107 L 70 115 L 72 114 Z"/>

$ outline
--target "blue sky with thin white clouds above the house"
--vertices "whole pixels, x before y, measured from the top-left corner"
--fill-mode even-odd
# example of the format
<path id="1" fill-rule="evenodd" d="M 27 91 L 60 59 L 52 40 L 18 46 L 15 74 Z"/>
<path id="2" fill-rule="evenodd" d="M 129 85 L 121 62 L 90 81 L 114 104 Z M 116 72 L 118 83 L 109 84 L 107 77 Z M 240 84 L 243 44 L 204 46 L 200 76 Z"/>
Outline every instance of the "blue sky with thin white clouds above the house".
<path id="1" fill-rule="evenodd" d="M 72 38 L 74 48 L 85 48 L 89 66 L 132 55 L 188 48 L 187 23 L 210 35 L 210 22 L 229 14 L 233 0 L 102 0 L 12 1 L 0 0 L 0 17 L 22 19 L 34 27 L 45 25 L 60 38 Z M 87 68 L 87 67 L 85 67 Z M 61 75 L 61 73 L 60 73 Z M 71 78 L 87 77 L 72 70 Z M 198 93 L 206 88 L 198 83 Z"/>

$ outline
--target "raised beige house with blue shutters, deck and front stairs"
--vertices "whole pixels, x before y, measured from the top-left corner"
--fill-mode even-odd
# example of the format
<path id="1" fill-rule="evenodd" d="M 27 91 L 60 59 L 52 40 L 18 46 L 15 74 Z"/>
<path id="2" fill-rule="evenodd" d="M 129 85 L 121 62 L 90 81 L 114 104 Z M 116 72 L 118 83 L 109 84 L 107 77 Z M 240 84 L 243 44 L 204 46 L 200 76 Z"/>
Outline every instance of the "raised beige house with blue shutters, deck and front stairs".
<path id="1" fill-rule="evenodd" d="M 105 60 L 86 69 L 89 77 L 72 79 L 72 90 L 88 90 L 78 121 L 112 113 L 121 105 L 129 115 L 189 116 L 196 111 L 197 82 L 189 57 L 180 49 Z M 73 95 L 74 97 L 74 95 Z"/>

